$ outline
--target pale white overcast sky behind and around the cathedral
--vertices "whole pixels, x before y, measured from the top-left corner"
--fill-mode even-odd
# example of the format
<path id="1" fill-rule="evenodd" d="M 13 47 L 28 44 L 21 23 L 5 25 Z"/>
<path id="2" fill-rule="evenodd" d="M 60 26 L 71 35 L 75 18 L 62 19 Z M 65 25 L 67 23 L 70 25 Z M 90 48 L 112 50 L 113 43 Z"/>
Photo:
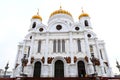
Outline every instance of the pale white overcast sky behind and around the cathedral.
<path id="1" fill-rule="evenodd" d="M 106 43 L 107 55 L 113 73 L 119 73 L 120 62 L 120 0 L 1 0 L 0 1 L 0 69 L 9 61 L 12 70 L 17 45 L 28 33 L 30 20 L 37 13 L 47 25 L 50 14 L 59 9 L 69 11 L 78 21 L 81 8 L 91 17 L 93 31 Z"/>

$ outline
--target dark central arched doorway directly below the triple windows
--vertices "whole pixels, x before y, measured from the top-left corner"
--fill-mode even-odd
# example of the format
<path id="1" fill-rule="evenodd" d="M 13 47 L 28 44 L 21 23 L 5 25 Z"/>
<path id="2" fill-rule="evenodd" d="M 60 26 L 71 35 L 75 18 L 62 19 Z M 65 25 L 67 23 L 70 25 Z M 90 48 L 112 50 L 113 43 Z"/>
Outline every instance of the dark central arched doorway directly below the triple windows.
<path id="1" fill-rule="evenodd" d="M 64 77 L 64 63 L 61 60 L 55 62 L 55 77 Z"/>

